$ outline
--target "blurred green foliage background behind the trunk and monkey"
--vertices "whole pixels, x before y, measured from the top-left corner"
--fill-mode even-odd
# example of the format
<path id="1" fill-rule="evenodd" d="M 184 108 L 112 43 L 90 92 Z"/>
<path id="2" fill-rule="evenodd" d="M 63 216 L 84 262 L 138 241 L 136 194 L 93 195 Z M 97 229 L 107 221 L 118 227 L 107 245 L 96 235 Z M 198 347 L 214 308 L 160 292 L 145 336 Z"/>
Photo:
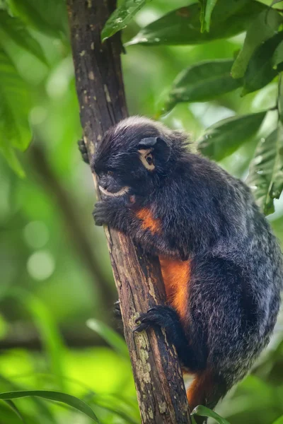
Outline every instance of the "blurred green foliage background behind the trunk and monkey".
<path id="1" fill-rule="evenodd" d="M 86 325 L 94 318 L 116 327 L 111 306 L 116 293 L 103 230 L 93 225 L 91 216 L 95 203 L 91 172 L 76 144 L 81 126 L 64 2 L 29 3 L 35 15 L 25 23 L 46 64 L 0 31 L 1 47 L 28 86 L 33 129 L 33 142 L 18 154 L 25 177 L 18 177 L 0 156 L 0 391 L 62 390 L 87 401 L 102 423 L 139 423 L 129 359 L 115 342 L 112 348 L 99 336 L 103 330 L 98 323 L 89 324 L 98 331 Z M 25 0 L 19 4 L 24 7 Z M 123 33 L 124 40 L 187 4 L 190 1 L 149 2 Z M 35 20 L 50 31 L 36 28 Z M 184 67 L 204 59 L 233 58 L 243 40 L 241 34 L 209 45 L 127 47 L 122 66 L 130 114 L 154 117 Z M 219 119 L 273 107 L 277 83 L 244 98 L 240 92 L 212 102 L 182 103 L 161 120 L 190 132 L 194 148 L 204 129 Z M 246 179 L 256 143 L 276 119 L 276 112 L 269 112 L 256 138 L 221 165 Z M 275 208 L 269 219 L 283 241 L 280 199 Z M 91 423 L 79 412 L 36 399 L 15 402 L 26 423 Z M 217 411 L 231 424 L 271 424 L 283 416 L 280 319 L 252 375 Z M 0 423 L 19 422 L 11 408 L 0 403 Z"/>

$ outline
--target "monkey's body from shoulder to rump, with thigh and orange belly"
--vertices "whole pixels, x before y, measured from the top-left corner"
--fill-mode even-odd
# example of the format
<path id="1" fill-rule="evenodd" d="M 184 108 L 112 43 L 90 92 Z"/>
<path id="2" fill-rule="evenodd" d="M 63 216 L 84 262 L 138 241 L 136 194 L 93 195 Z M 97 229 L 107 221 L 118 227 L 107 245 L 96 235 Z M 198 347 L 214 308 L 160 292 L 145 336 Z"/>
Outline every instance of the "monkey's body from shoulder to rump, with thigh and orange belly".
<path id="1" fill-rule="evenodd" d="M 197 155 L 187 155 L 155 200 L 154 214 L 179 254 L 161 259 L 169 301 L 187 340 L 204 353 L 192 371 L 210 367 L 229 388 L 270 340 L 283 281 L 281 250 L 246 184 Z"/>

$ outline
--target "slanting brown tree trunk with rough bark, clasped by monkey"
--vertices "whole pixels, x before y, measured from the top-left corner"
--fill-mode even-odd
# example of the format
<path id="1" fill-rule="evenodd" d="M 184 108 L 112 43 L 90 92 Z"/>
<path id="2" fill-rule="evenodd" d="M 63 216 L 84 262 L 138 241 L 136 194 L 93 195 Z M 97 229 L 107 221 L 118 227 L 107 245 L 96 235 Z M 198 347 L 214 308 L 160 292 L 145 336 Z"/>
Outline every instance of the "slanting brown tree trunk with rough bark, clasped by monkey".
<path id="1" fill-rule="evenodd" d="M 120 37 L 100 42 L 114 0 L 67 0 L 83 134 L 91 156 L 103 133 L 127 116 Z M 94 177 L 96 182 L 96 177 Z M 175 348 L 162 330 L 133 334 L 139 312 L 165 302 L 158 259 L 145 257 L 128 237 L 105 228 L 132 360 L 141 423 L 190 423 Z"/>

